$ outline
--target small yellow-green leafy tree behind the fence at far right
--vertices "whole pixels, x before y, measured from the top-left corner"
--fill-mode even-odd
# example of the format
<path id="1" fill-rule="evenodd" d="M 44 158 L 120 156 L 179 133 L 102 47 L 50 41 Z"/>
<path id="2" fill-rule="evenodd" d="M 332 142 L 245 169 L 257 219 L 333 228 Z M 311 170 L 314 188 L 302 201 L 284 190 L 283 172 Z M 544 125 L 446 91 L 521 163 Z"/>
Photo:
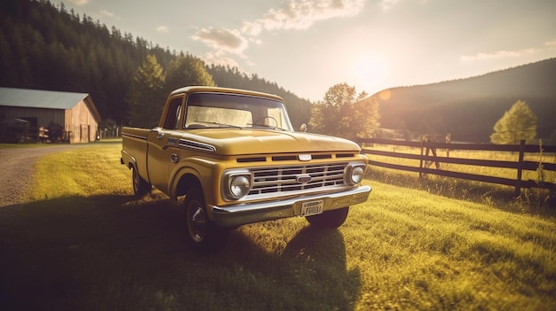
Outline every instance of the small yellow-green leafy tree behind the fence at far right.
<path id="1" fill-rule="evenodd" d="M 517 101 L 494 125 L 490 136 L 492 144 L 520 144 L 525 140 L 535 143 L 536 115 L 524 101 Z"/>

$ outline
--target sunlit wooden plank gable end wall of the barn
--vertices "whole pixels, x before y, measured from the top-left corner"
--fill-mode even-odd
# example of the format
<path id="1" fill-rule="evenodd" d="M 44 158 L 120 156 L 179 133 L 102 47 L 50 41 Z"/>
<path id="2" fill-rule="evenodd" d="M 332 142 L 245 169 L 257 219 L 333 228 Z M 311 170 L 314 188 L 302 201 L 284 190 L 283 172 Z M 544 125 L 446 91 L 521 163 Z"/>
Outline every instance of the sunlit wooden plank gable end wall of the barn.
<path id="1" fill-rule="evenodd" d="M 70 131 L 70 143 L 93 142 L 97 136 L 99 124 L 85 105 L 80 101 L 72 109 L 66 111 L 66 131 Z"/>

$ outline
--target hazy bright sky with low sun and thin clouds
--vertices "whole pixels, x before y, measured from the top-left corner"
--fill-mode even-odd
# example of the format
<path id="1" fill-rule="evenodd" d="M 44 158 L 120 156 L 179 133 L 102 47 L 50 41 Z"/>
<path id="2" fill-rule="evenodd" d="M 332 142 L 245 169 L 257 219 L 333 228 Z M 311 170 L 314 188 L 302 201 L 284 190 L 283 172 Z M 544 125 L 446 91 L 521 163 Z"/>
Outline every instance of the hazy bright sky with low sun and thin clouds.
<path id="1" fill-rule="evenodd" d="M 61 2 L 52 2 L 60 5 Z M 556 58 L 555 0 L 66 0 L 66 9 L 320 101 Z"/>

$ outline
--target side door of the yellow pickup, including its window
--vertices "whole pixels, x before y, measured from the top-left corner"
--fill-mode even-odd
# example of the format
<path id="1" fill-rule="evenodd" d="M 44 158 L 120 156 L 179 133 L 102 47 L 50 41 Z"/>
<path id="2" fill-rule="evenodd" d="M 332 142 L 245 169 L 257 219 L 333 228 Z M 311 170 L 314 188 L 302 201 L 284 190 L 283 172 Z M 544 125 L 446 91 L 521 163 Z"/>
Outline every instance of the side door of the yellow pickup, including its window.
<path id="1" fill-rule="evenodd" d="M 168 139 L 171 133 L 181 128 L 183 97 L 171 99 L 164 109 L 166 115 L 163 128 L 153 128 L 147 138 L 147 169 L 150 183 L 168 194 L 170 179 L 171 148 Z"/>

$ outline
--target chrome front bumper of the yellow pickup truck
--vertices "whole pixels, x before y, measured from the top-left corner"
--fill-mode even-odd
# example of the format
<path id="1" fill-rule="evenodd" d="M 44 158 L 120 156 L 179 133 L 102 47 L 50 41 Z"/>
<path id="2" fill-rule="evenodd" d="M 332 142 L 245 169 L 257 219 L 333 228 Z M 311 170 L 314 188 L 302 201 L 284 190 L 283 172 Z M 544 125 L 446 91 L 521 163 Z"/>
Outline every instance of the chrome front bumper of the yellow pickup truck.
<path id="1" fill-rule="evenodd" d="M 287 198 L 272 202 L 257 202 L 237 206 L 212 206 L 212 221 L 221 227 L 238 227 L 253 222 L 266 222 L 280 218 L 298 216 L 305 202 L 323 201 L 322 211 L 330 211 L 342 207 L 365 202 L 372 189 L 361 186 L 336 193 L 322 193 L 297 198 Z"/>

